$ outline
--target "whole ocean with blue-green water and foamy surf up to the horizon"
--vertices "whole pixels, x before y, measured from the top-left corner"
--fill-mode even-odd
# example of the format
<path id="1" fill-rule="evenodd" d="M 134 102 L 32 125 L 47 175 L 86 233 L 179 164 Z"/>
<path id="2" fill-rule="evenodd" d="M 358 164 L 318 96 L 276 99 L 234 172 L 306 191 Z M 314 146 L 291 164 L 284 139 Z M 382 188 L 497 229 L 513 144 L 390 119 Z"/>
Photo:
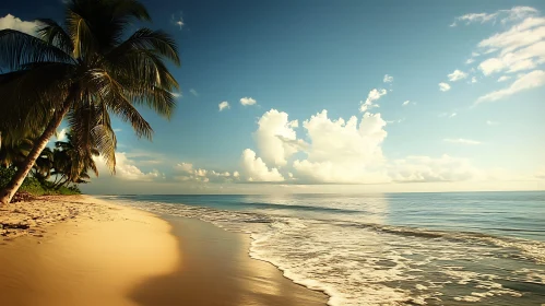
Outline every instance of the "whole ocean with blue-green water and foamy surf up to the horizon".
<path id="1" fill-rule="evenodd" d="M 545 305 L 545 192 L 104 196 L 249 233 L 329 305 Z"/>

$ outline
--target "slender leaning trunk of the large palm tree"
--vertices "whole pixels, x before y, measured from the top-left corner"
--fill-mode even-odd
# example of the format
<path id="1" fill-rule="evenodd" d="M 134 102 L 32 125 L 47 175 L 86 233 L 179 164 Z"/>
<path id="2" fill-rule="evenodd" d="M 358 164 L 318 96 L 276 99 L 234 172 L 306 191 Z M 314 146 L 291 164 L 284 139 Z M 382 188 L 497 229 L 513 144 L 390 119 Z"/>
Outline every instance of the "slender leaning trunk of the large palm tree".
<path id="1" fill-rule="evenodd" d="M 34 166 L 34 163 L 42 154 L 42 151 L 44 151 L 44 149 L 46 148 L 47 142 L 49 142 L 49 139 L 55 134 L 55 131 L 60 126 L 60 122 L 62 122 L 62 118 L 64 118 L 68 110 L 70 109 L 70 99 L 67 99 L 64 102 L 62 108 L 59 109 L 59 111 L 54 116 L 42 136 L 36 140 L 36 142 L 34 142 L 34 146 L 26 156 L 24 163 L 20 167 L 17 167 L 15 176 L 11 179 L 11 181 L 5 186 L 4 189 L 0 190 L 0 205 L 8 204 L 17 189 L 21 187 L 24 179 Z"/>

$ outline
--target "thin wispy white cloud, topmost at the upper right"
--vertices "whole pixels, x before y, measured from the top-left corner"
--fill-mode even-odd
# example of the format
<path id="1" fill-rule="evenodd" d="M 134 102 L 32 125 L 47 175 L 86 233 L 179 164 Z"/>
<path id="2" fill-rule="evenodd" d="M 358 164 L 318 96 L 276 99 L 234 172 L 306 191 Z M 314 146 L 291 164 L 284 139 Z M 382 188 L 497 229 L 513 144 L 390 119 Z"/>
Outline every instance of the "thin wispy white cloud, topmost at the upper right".
<path id="1" fill-rule="evenodd" d="M 510 10 L 499 10 L 494 13 L 470 13 L 458 16 L 450 26 L 457 26 L 459 23 L 487 23 L 500 21 L 507 23 L 510 21 L 522 20 L 526 16 L 535 15 L 538 11 L 530 7 L 514 7 Z"/>

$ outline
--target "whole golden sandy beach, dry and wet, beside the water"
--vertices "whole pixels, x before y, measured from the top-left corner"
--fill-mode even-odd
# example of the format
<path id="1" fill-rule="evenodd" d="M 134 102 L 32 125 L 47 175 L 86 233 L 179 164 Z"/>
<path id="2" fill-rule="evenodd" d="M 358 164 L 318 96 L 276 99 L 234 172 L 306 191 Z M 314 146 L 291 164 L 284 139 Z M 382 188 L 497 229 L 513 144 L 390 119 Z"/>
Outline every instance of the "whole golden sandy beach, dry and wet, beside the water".
<path id="1" fill-rule="evenodd" d="M 249 237 L 80 197 L 0 209 L 5 305 L 325 305 L 248 256 Z"/>

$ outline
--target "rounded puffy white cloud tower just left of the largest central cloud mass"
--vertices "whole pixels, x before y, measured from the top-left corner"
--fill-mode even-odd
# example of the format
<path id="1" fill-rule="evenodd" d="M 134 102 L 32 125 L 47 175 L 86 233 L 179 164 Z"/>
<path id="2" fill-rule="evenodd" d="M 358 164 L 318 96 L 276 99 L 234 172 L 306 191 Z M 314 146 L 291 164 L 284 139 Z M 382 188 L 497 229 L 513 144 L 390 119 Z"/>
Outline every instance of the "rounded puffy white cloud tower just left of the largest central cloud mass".
<path id="1" fill-rule="evenodd" d="M 268 164 L 284 166 L 287 158 L 304 148 L 303 140 L 297 140 L 294 128 L 298 121 L 288 120 L 284 111 L 271 109 L 263 114 L 258 121 L 258 130 L 253 133 L 260 156 Z"/>

